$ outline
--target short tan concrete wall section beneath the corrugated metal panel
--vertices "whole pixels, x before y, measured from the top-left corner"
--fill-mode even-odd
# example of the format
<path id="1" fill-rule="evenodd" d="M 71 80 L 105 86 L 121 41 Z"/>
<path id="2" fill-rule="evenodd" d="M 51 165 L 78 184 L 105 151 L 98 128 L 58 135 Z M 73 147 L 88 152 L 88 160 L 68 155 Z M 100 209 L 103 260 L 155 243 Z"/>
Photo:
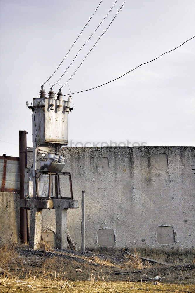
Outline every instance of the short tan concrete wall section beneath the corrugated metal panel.
<path id="1" fill-rule="evenodd" d="M 18 241 L 20 233 L 20 194 L 0 192 L 0 245 Z"/>

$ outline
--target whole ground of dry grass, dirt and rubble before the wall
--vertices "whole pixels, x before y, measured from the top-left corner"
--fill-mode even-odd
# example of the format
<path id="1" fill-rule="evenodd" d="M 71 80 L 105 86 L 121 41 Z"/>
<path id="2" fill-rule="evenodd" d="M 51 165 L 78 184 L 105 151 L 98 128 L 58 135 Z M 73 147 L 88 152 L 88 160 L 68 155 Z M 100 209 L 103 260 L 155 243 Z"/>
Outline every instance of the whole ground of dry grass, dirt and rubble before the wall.
<path id="1" fill-rule="evenodd" d="M 129 257 L 124 251 L 81 253 L 46 247 L 44 255 L 28 246 L 4 245 L 0 292 L 195 292 L 193 251 L 133 253 Z M 140 256 L 168 265 L 142 261 Z"/>

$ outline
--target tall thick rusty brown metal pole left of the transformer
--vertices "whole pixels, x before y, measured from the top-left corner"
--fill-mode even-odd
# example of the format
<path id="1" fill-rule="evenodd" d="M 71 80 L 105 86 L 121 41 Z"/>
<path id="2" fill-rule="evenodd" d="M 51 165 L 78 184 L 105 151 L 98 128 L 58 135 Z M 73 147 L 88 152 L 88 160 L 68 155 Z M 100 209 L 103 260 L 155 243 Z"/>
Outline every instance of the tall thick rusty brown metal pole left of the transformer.
<path id="1" fill-rule="evenodd" d="M 20 157 L 20 199 L 24 198 L 24 169 L 27 168 L 25 130 L 19 130 L 19 157 Z M 27 210 L 20 207 L 20 237 L 23 243 L 27 243 Z"/>

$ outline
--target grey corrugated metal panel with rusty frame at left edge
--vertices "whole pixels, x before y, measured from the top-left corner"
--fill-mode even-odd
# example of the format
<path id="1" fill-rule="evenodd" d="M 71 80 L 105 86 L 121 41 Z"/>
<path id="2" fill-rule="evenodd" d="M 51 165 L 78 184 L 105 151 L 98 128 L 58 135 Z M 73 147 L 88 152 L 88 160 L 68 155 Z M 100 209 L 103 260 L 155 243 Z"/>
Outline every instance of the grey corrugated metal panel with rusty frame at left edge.
<path id="1" fill-rule="evenodd" d="M 19 158 L 0 156 L 0 191 L 20 191 Z"/>

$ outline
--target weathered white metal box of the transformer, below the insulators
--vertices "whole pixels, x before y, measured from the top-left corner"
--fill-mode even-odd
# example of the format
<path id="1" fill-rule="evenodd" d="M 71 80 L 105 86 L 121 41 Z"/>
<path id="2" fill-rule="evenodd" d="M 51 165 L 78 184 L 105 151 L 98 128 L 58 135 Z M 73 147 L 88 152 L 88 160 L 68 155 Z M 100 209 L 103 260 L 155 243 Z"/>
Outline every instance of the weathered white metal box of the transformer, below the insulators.
<path id="1" fill-rule="evenodd" d="M 41 105 L 41 101 L 45 105 Z M 55 100 L 55 110 L 51 110 L 51 99 L 35 98 L 33 106 L 33 144 L 68 144 L 68 114 L 67 101 L 62 101 L 61 110 L 58 111 L 59 100 Z"/>

